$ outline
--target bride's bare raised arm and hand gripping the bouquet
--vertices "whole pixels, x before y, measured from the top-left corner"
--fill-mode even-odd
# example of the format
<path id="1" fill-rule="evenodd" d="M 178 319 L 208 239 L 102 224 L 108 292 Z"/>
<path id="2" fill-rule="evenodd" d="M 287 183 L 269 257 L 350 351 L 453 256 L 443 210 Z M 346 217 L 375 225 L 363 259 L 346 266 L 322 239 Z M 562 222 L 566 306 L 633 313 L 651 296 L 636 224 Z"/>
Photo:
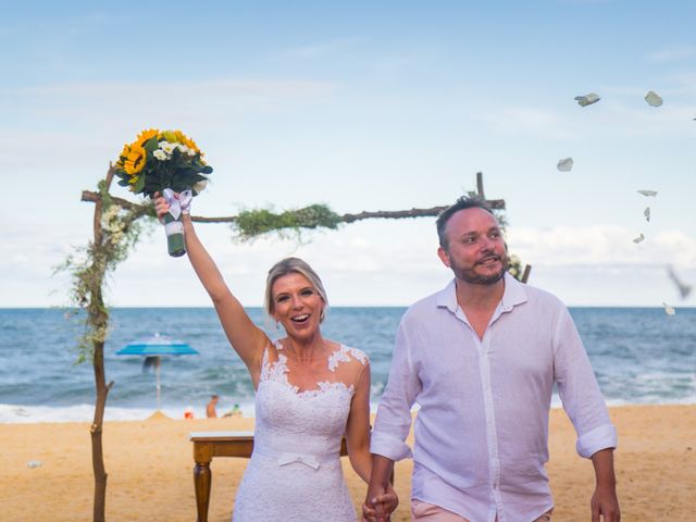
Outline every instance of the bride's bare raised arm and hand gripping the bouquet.
<path id="1" fill-rule="evenodd" d="M 175 197 L 177 196 L 178 195 Z M 154 200 L 154 208 L 158 217 L 161 220 L 169 211 L 169 203 L 160 196 Z M 253 324 L 241 303 L 227 287 L 220 270 L 217 270 L 217 265 L 200 243 L 188 213 L 184 213 L 183 223 L 186 252 L 191 266 L 194 266 L 196 275 L 198 275 L 198 278 L 213 301 L 213 306 L 215 307 L 222 327 L 227 335 L 227 339 L 229 339 L 229 344 L 249 369 L 256 386 L 261 372 L 263 349 L 268 343 L 270 343 L 269 337 L 261 328 Z"/>

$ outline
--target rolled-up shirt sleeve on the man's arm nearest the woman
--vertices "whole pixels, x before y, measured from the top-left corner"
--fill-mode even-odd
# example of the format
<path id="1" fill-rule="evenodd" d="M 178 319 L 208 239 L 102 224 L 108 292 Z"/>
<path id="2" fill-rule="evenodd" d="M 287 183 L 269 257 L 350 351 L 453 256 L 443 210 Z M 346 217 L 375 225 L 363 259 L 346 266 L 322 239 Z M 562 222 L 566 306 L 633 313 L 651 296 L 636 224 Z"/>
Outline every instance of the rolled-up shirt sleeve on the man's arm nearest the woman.
<path id="1" fill-rule="evenodd" d="M 391 460 L 412 456 L 406 437 L 411 428 L 411 407 L 421 389 L 412 364 L 409 335 L 403 325 L 397 332 L 389 381 L 380 400 L 370 450 Z"/>

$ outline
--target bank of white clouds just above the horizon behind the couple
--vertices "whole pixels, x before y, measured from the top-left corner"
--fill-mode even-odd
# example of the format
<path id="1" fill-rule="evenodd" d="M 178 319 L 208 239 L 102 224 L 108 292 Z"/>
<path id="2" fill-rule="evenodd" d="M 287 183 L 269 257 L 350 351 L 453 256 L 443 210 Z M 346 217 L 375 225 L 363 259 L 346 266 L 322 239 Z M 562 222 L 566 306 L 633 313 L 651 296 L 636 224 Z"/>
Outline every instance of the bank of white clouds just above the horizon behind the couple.
<path id="1" fill-rule="evenodd" d="M 376 221 L 308 236 L 298 245 L 274 236 L 235 244 L 227 227 L 198 225 L 231 288 L 246 306 L 260 306 L 266 271 L 287 256 L 306 259 L 322 276 L 334 306 L 407 306 L 437 289 L 451 273 L 436 256 L 433 220 Z M 514 227 L 510 251 L 532 264 L 531 283 L 569 304 L 659 306 L 678 301 L 667 276 L 674 265 L 696 283 L 696 240 L 679 231 L 646 234 L 617 226 Z M 25 227 L 0 237 L 12 256 L 0 258 L 0 307 L 66 304 L 70 281 L 51 276 L 72 245 L 86 243 L 77 232 L 58 234 Z M 186 258 L 170 258 L 157 227 L 145 236 L 109 283 L 113 306 L 209 306 Z"/>

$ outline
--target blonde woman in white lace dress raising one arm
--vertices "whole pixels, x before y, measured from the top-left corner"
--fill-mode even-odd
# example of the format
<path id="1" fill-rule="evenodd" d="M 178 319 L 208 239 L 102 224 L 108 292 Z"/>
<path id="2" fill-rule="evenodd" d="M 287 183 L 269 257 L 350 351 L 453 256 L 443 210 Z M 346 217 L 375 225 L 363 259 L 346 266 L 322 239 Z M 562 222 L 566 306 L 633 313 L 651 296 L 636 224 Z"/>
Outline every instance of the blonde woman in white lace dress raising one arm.
<path id="1" fill-rule="evenodd" d="M 157 196 L 162 220 L 170 206 Z M 339 450 L 345 436 L 350 463 L 366 483 L 372 471 L 366 356 L 322 335 L 328 299 L 316 273 L 298 258 L 269 271 L 264 308 L 286 334 L 271 340 L 225 284 L 196 235 L 188 208 L 182 210 L 188 259 L 256 389 L 253 452 L 233 520 L 355 522 Z M 390 512 L 397 502 L 385 484 L 377 508 Z"/>

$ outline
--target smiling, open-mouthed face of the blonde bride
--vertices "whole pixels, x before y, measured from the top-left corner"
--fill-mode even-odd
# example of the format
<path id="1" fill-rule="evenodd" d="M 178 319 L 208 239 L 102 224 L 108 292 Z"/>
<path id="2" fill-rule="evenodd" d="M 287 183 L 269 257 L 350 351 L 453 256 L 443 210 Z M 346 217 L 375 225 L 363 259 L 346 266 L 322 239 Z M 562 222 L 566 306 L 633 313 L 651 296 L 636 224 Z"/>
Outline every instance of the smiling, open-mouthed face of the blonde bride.
<path id="1" fill-rule="evenodd" d="M 319 330 L 324 300 L 310 281 L 291 273 L 278 277 L 271 289 L 273 319 L 285 327 L 291 337 L 307 338 Z"/>

